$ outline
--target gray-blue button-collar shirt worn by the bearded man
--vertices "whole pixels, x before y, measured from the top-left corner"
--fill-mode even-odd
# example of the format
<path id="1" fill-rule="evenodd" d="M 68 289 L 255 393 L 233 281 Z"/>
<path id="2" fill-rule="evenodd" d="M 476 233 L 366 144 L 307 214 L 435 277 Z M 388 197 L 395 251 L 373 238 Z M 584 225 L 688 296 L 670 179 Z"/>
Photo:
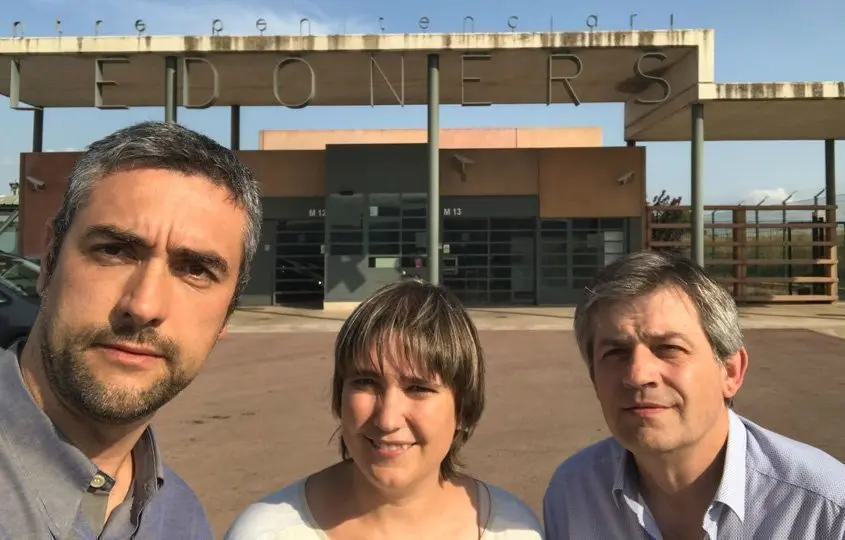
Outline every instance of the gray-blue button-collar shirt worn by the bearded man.
<path id="1" fill-rule="evenodd" d="M 0 540 L 205 540 L 191 488 L 161 459 L 152 430 L 133 449 L 135 479 L 105 518 L 114 481 L 35 404 L 17 357 L 0 349 Z"/>

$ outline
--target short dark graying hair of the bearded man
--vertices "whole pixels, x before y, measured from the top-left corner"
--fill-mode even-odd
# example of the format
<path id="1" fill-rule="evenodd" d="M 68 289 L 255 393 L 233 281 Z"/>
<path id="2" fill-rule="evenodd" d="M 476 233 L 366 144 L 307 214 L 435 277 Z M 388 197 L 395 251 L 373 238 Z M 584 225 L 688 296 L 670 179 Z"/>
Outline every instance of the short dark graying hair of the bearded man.
<path id="1" fill-rule="evenodd" d="M 97 181 L 117 172 L 147 168 L 204 176 L 212 184 L 226 188 L 234 203 L 246 212 L 244 252 L 229 306 L 231 314 L 249 281 L 261 236 L 260 186 L 234 152 L 179 124 L 141 122 L 92 143 L 79 157 L 68 178 L 61 208 L 53 219 L 53 243 L 43 264 L 47 281 L 56 269 L 74 217 L 88 202 Z"/>

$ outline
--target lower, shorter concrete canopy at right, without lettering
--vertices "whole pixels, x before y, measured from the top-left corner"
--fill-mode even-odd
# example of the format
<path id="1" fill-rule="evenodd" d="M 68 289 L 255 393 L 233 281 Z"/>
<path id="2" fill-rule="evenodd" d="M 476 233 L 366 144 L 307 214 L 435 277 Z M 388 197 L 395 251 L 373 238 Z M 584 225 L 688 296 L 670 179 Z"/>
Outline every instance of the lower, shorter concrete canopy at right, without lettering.
<path id="1" fill-rule="evenodd" d="M 705 83 L 658 106 L 626 107 L 625 138 L 688 141 L 689 105 L 704 104 L 708 141 L 845 139 L 845 82 Z"/>

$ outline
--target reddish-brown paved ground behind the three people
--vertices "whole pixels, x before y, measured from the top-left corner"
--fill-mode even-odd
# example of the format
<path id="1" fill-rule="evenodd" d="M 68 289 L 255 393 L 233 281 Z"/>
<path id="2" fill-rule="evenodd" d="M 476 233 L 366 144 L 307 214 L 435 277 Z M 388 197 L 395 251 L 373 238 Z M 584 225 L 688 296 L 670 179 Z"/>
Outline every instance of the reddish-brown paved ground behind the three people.
<path id="1" fill-rule="evenodd" d="M 488 407 L 465 454 L 472 472 L 539 512 L 555 466 L 607 435 L 571 332 L 483 331 Z M 329 412 L 333 333 L 232 334 L 156 424 L 171 465 L 218 535 L 249 502 L 337 459 Z M 842 340 L 747 332 L 737 410 L 845 460 Z"/>

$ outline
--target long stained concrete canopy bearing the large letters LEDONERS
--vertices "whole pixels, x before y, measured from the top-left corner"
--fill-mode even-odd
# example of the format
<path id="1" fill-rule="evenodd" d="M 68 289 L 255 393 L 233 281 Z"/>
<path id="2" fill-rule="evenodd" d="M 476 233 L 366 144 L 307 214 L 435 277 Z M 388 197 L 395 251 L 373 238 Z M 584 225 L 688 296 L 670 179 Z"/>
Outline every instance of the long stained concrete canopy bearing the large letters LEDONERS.
<path id="1" fill-rule="evenodd" d="M 687 88 L 712 81 L 712 30 L 379 34 L 340 36 L 132 36 L 49 37 L 0 39 L 0 93 L 9 95 L 13 58 L 20 66 L 20 101 L 41 107 L 94 107 L 95 59 L 124 57 L 125 63 L 106 63 L 101 80 L 117 86 L 103 88 L 104 104 L 130 107 L 164 106 L 165 57 L 200 57 L 214 64 L 219 77 L 215 105 L 281 106 L 274 94 L 276 65 L 299 57 L 279 71 L 279 97 L 299 104 L 311 90 L 311 105 L 396 105 L 427 102 L 429 53 L 440 55 L 440 102 L 493 104 L 571 103 L 560 81 L 549 99 L 549 55 L 571 53 L 582 69 L 571 84 L 584 103 L 626 102 L 649 94 L 660 96 L 658 84 L 636 74 L 645 52 L 659 51 L 665 59 L 646 58 L 641 69 Z M 490 59 L 464 60 L 466 54 L 489 54 Z M 375 60 L 375 63 L 371 60 Z M 552 75 L 573 76 L 577 65 L 552 61 Z M 463 77 L 478 77 L 480 82 Z M 190 104 L 212 96 L 213 75 L 207 64 L 191 66 Z M 390 81 L 390 85 L 386 82 Z M 179 86 L 183 67 L 178 69 Z M 372 81 L 372 83 L 371 83 Z M 392 89 L 391 89 L 392 85 Z M 372 88 L 372 90 L 371 90 Z M 182 90 L 177 103 L 184 106 Z"/>

